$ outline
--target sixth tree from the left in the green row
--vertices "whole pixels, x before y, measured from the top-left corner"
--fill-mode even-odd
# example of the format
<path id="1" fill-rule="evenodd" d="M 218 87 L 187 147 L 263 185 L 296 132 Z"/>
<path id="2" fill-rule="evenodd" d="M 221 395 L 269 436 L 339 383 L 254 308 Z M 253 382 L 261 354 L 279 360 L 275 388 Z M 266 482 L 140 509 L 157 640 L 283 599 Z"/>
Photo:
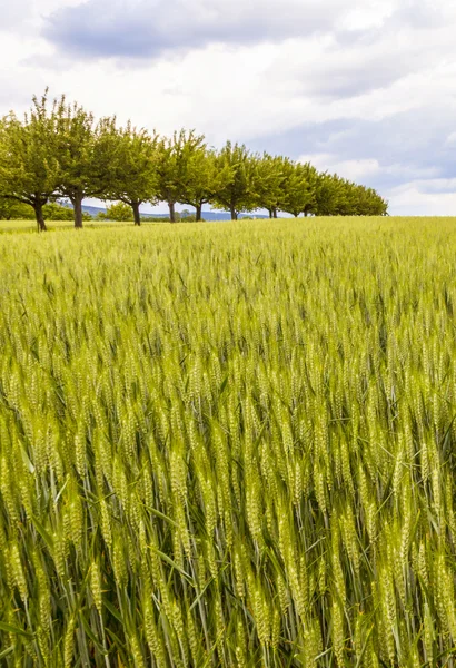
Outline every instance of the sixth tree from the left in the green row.
<path id="1" fill-rule="evenodd" d="M 240 212 L 255 210 L 258 206 L 256 158 L 244 145 L 227 141 L 216 163 L 219 171 L 226 170 L 227 178 L 211 202 L 229 210 L 231 220 L 237 220 Z"/>

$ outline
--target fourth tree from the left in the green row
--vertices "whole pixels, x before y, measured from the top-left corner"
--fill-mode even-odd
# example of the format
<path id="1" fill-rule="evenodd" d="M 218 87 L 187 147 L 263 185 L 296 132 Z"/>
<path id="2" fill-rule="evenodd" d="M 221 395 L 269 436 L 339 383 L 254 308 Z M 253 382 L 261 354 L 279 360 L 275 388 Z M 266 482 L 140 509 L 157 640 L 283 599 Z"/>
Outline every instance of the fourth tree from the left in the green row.
<path id="1" fill-rule="evenodd" d="M 159 144 L 157 197 L 168 204 L 171 223 L 176 222 L 176 203 L 191 204 L 187 197 L 191 193 L 191 186 L 186 179 L 189 178 L 191 160 L 205 148 L 205 138 L 194 130 L 188 134 L 180 130 L 171 139 L 162 139 Z"/>

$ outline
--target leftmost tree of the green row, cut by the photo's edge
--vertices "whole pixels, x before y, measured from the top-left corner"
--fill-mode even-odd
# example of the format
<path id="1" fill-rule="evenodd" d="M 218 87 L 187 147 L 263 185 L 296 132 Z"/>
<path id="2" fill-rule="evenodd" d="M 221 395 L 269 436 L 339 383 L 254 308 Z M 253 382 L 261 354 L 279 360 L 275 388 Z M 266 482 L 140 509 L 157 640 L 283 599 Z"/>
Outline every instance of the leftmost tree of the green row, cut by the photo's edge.
<path id="1" fill-rule="evenodd" d="M 0 196 L 30 205 L 39 232 L 46 230 L 42 207 L 56 195 L 60 166 L 48 94 L 20 121 L 9 114 L 0 122 Z"/>

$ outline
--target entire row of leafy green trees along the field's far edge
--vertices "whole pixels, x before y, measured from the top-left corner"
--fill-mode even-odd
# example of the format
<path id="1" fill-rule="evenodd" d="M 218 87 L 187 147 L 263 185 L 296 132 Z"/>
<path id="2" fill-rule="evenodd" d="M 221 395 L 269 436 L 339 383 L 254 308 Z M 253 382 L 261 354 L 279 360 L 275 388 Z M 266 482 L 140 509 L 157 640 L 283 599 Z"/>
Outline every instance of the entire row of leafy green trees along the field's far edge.
<path id="1" fill-rule="evenodd" d="M 166 202 L 171 222 L 176 204 L 211 204 L 240 212 L 265 208 L 304 215 L 384 215 L 387 203 L 371 188 L 310 164 L 281 156 L 254 154 L 228 141 L 220 150 L 207 146 L 194 130 L 160 137 L 115 117 L 95 120 L 65 96 L 49 104 L 47 92 L 23 119 L 13 112 L 0 119 L 0 209 L 11 203 L 31 206 L 38 228 L 46 229 L 46 205 L 58 198 L 72 205 L 76 227 L 82 227 L 82 202 L 97 197 L 131 207 L 140 225 L 140 206 Z"/>

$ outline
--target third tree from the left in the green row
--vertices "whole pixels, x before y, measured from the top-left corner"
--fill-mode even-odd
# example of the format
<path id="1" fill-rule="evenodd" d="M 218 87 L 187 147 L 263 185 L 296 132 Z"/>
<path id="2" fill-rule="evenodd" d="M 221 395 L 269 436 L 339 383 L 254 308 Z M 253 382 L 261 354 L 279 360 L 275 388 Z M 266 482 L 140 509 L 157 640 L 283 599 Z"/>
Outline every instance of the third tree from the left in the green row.
<path id="1" fill-rule="evenodd" d="M 158 136 L 150 136 L 146 129 L 137 130 L 128 122 L 126 128 L 119 130 L 111 126 L 108 141 L 111 141 L 109 154 L 112 156 L 112 176 L 105 198 L 119 199 L 131 207 L 135 225 L 140 225 L 140 205 L 145 202 L 156 204 Z M 126 214 L 122 213 L 122 216 Z M 131 216 L 122 217 L 122 220 L 131 220 Z"/>

